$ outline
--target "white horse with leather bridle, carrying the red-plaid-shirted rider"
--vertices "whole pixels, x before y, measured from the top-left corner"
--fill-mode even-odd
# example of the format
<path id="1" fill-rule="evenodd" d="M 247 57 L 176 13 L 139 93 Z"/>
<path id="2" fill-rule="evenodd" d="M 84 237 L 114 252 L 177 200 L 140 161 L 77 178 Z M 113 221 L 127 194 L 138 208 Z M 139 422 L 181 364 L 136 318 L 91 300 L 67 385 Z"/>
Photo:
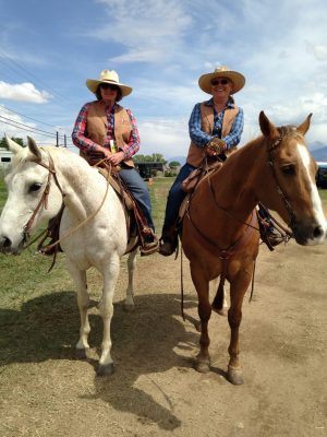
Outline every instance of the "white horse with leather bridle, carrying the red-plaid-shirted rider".
<path id="1" fill-rule="evenodd" d="M 122 203 L 104 176 L 76 154 L 61 147 L 38 147 L 32 139 L 28 139 L 28 147 L 10 139 L 7 141 L 14 158 L 5 177 L 9 196 L 0 217 L 0 251 L 19 253 L 29 232 L 56 216 L 64 203 L 60 235 L 66 238 L 63 237 L 60 244 L 77 290 L 81 329 L 76 354 L 86 357 L 89 347 L 86 270 L 95 267 L 104 277 L 98 306 L 104 320 L 104 338 L 97 373 L 110 375 L 113 371 L 110 355 L 112 298 L 120 258 L 128 246 Z M 134 307 L 135 255 L 133 251 L 128 258 L 129 284 L 124 302 L 128 309 Z"/>

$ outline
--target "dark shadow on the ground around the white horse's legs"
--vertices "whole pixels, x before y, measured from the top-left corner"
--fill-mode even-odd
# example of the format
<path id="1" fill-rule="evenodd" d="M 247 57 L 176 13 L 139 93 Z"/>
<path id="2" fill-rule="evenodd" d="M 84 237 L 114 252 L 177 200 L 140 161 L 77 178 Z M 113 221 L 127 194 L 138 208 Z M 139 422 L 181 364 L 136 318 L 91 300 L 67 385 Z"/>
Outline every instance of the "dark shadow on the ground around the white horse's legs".
<path id="1" fill-rule="evenodd" d="M 182 318 L 177 317 L 179 295 L 148 294 L 136 296 L 133 314 L 124 312 L 122 302 L 114 304 L 111 338 L 116 371 L 110 377 L 95 376 L 95 393 L 82 398 L 100 398 L 117 411 L 135 414 L 143 423 L 155 422 L 160 428 L 172 430 L 181 422 L 165 387 L 159 387 L 152 374 L 173 367 L 191 368 L 198 333 L 195 329 L 186 330 Z M 195 296 L 184 305 L 185 309 L 196 306 Z M 90 314 L 89 323 L 89 344 L 94 350 L 100 345 L 102 321 Z M 0 364 L 72 359 L 78 328 L 75 293 L 69 291 L 31 299 L 20 311 L 0 309 Z M 177 349 L 179 353 L 174 352 Z M 97 361 L 89 359 L 89 364 L 97 368 Z M 141 377 L 146 378 L 164 402 L 157 402 L 136 387 Z"/>

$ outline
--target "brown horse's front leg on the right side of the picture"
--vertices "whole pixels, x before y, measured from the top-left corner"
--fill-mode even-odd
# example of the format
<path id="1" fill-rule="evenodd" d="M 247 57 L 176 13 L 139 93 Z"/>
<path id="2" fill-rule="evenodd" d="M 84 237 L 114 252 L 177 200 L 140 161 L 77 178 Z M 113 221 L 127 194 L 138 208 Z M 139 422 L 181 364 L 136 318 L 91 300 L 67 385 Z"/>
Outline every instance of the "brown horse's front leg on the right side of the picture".
<path id="1" fill-rule="evenodd" d="M 243 371 L 240 365 L 239 330 L 242 320 L 242 304 L 246 290 L 251 283 L 252 269 L 240 272 L 235 281 L 230 284 L 230 308 L 228 311 L 228 322 L 231 330 L 229 352 L 229 364 L 227 379 L 234 385 L 244 382 Z"/>

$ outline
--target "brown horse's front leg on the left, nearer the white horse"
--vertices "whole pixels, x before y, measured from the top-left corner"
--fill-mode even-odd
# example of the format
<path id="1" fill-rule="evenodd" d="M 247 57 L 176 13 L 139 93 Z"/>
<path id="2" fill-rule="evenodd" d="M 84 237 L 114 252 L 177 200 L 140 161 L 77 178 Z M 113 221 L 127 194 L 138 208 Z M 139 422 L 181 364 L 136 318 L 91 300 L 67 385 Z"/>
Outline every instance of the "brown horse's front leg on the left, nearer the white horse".
<path id="1" fill-rule="evenodd" d="M 209 303 L 209 282 L 202 277 L 201 271 L 191 265 L 191 275 L 198 297 L 198 317 L 201 320 L 199 353 L 196 356 L 195 369 L 201 373 L 210 370 L 208 322 L 211 316 Z"/>

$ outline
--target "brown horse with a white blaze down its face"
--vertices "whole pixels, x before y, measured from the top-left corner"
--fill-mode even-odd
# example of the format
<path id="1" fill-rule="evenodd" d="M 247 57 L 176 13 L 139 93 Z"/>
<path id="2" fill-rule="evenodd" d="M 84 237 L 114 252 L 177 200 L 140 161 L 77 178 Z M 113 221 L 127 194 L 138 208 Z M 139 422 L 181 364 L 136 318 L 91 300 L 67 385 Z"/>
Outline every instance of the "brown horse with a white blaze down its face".
<path id="1" fill-rule="evenodd" d="M 276 128 L 262 111 L 263 137 L 232 154 L 218 172 L 197 186 L 191 197 L 183 218 L 182 246 L 198 295 L 198 371 L 209 370 L 209 281 L 220 275 L 221 286 L 213 309 L 221 310 L 223 280 L 227 279 L 230 283 L 228 321 L 231 329 L 227 377 L 232 383 L 243 383 L 239 328 L 243 297 L 258 253 L 256 204 L 262 201 L 277 211 L 299 245 L 318 245 L 326 238 L 326 218 L 315 184 L 317 165 L 304 142 L 310 119 L 311 115 L 298 128 Z"/>

